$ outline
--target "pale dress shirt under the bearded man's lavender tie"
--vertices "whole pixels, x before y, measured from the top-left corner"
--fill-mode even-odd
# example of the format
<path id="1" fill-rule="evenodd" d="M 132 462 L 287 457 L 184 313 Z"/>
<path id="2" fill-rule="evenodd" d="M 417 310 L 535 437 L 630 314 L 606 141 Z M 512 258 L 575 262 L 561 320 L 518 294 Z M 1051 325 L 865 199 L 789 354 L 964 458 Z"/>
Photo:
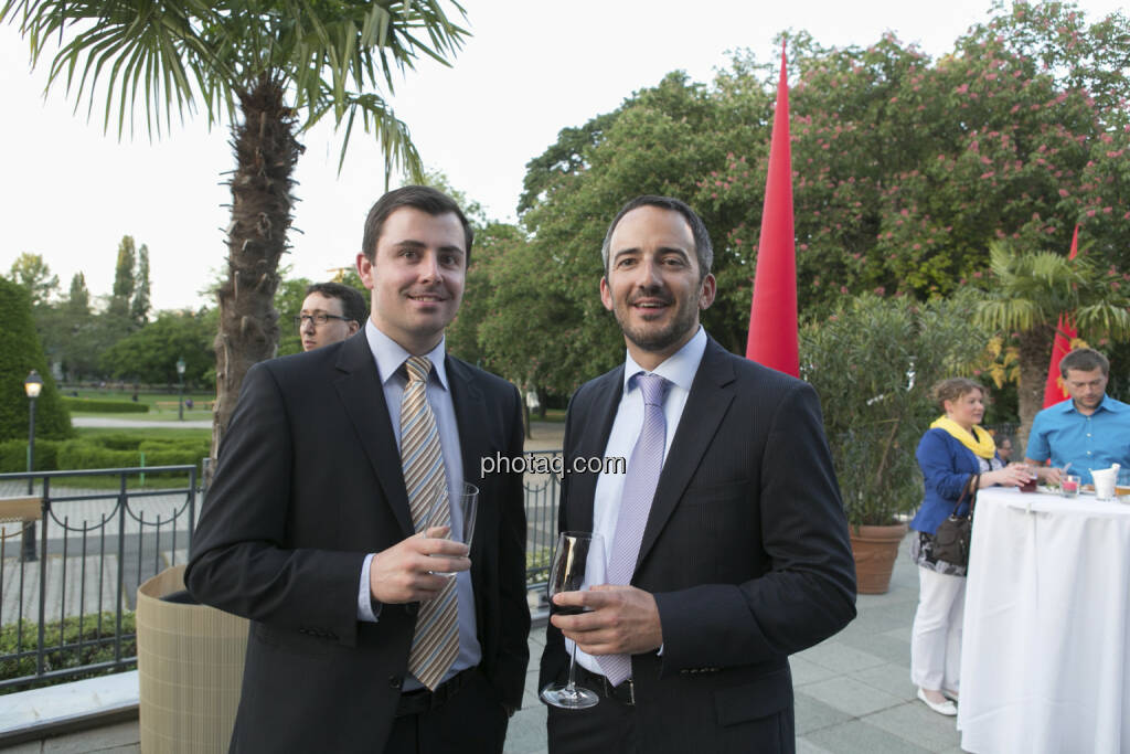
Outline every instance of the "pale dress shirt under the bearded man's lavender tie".
<path id="1" fill-rule="evenodd" d="M 671 450 L 671 441 L 675 439 L 675 431 L 679 426 L 683 417 L 683 408 L 687 405 L 687 397 L 690 396 L 690 384 L 698 373 L 698 364 L 702 363 L 703 353 L 706 350 L 706 331 L 702 326 L 698 331 L 677 352 L 657 366 L 651 373 L 664 378 L 670 385 L 663 398 L 663 418 L 667 422 L 667 440 L 663 443 L 663 461 L 667 462 L 667 453 Z M 635 384 L 633 378 L 640 372 L 647 370 L 636 364 L 629 353 L 624 362 L 624 393 L 620 396 L 620 405 L 616 409 L 616 418 L 612 421 L 612 431 L 608 435 L 608 445 L 605 448 L 605 458 L 624 458 L 625 470 L 627 459 L 632 458 L 632 449 L 635 448 L 640 431 L 643 430 L 643 395 Z M 615 468 L 612 469 L 615 471 Z M 605 539 L 605 566 L 611 558 L 612 539 L 616 536 L 616 521 L 620 514 L 620 499 L 624 495 L 625 474 L 601 474 L 597 479 L 597 491 L 592 502 L 592 530 Z M 585 584 L 588 588 L 591 584 Z M 565 640 L 565 649 L 572 651 L 573 642 Z M 597 658 L 582 650 L 576 650 L 576 661 L 590 670 L 603 675 Z"/>

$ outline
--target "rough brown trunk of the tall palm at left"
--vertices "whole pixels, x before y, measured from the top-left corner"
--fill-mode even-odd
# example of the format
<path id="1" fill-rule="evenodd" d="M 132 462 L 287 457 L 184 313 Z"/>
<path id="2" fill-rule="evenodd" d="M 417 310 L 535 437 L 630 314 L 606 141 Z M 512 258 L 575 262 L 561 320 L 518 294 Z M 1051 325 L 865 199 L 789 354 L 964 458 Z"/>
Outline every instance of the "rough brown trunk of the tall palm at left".
<path id="1" fill-rule="evenodd" d="M 285 90 L 263 75 L 241 90 L 243 121 L 232 129 L 236 168 L 232 187 L 232 224 L 227 229 L 228 278 L 217 291 L 216 410 L 211 458 L 216 459 L 235 409 L 243 376 L 278 348 L 279 258 L 287 249 L 294 197 L 294 166 L 303 147 L 295 139 L 295 115 L 284 104 Z"/>

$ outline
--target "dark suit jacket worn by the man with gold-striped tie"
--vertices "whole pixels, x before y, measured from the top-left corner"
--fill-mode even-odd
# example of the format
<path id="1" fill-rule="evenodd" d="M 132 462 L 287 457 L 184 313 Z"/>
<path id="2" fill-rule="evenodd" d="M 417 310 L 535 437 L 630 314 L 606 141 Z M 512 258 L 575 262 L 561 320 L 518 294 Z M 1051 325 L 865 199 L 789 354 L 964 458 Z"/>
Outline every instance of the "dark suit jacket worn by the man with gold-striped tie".
<path id="1" fill-rule="evenodd" d="M 519 707 L 529 660 L 513 385 L 457 358 L 446 373 L 463 476 L 479 487 L 471 546 L 480 668 Z M 411 536 L 400 453 L 364 332 L 253 366 L 220 449 L 185 572 L 201 601 L 251 618 L 233 735 L 240 752 L 374 752 L 407 674 L 418 604 L 357 619 L 362 563 Z M 501 712 L 499 712 L 501 714 Z"/>

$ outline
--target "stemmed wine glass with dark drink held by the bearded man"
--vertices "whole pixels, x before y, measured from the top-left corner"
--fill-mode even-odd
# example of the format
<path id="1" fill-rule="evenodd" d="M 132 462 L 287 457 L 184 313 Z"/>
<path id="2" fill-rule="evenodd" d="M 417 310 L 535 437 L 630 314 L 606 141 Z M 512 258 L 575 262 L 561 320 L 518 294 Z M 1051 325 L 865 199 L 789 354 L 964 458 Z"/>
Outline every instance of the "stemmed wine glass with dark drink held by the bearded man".
<path id="1" fill-rule="evenodd" d="M 549 614 L 577 615 L 581 607 L 554 604 L 559 591 L 580 591 L 605 581 L 605 538 L 588 531 L 562 531 L 557 537 L 553 566 L 549 570 Z M 541 690 L 541 701 L 567 710 L 583 710 L 600 701 L 597 692 L 576 685 L 576 644 L 568 658 L 568 683 L 549 684 Z"/>

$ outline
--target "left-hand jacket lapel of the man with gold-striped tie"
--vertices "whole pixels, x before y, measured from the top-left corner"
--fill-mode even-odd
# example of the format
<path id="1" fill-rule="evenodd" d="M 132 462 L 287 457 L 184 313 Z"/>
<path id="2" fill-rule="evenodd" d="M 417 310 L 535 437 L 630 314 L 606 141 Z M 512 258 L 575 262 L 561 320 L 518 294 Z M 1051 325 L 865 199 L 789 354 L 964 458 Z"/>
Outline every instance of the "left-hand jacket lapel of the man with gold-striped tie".
<path id="1" fill-rule="evenodd" d="M 341 344 L 334 387 L 349 421 L 353 422 L 360 447 L 373 466 L 383 497 L 392 508 L 402 534 L 414 532 L 408 508 L 408 491 L 400 468 L 400 450 L 392 433 L 392 418 L 384 402 L 381 376 L 364 331 Z"/>

